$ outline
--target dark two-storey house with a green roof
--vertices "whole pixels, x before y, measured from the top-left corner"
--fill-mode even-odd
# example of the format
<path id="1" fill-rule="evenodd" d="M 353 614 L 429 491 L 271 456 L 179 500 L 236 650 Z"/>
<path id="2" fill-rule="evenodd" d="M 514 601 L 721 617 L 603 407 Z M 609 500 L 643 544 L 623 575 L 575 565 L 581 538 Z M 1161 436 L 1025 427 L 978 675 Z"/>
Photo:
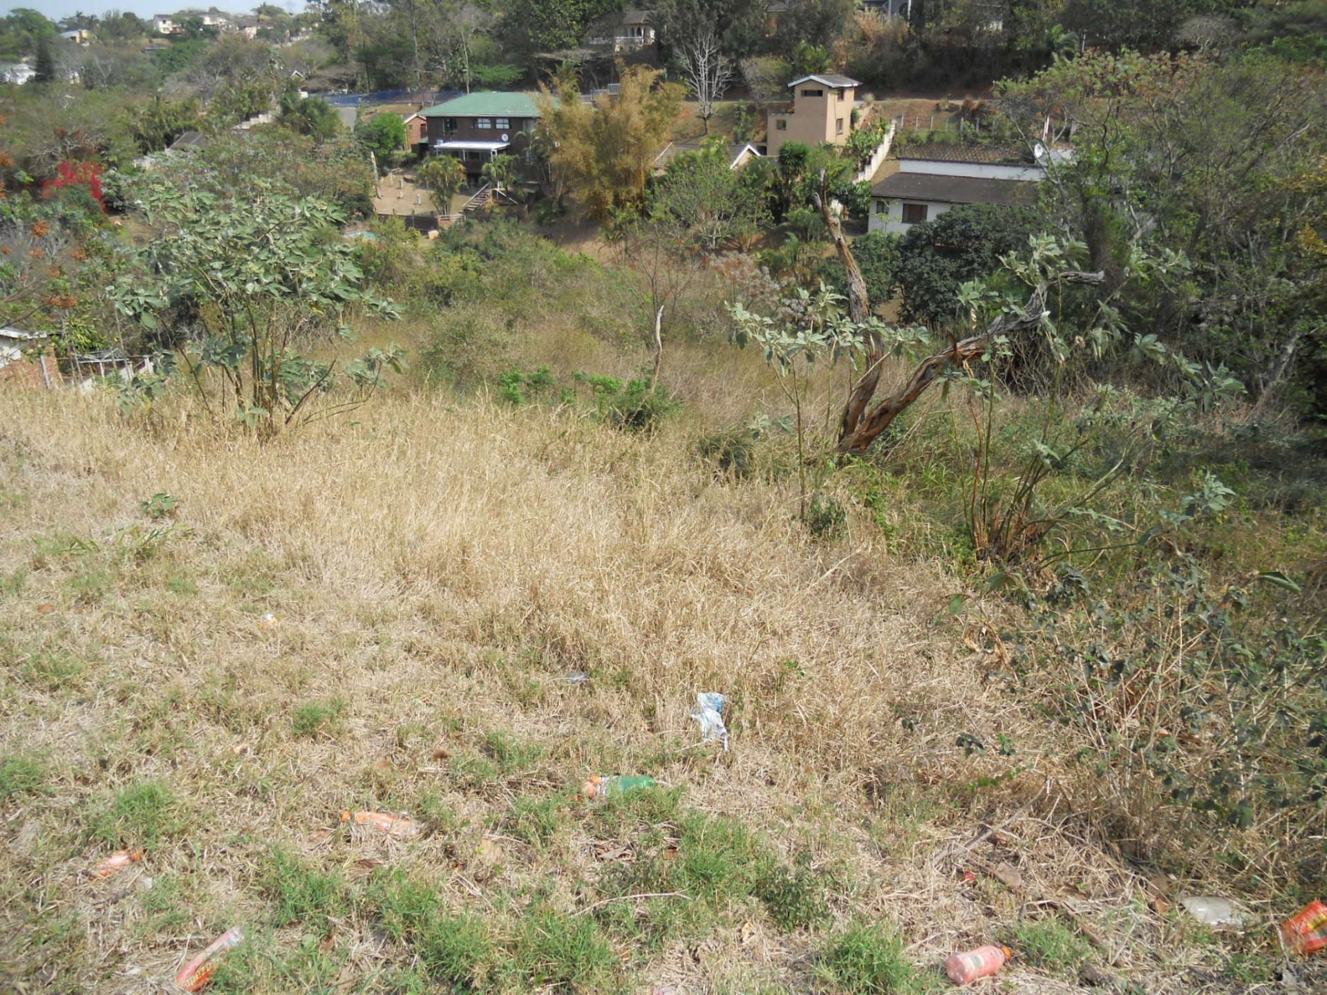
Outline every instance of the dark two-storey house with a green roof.
<path id="1" fill-rule="evenodd" d="M 427 150 L 460 159 L 471 182 L 478 182 L 479 171 L 495 155 L 527 158 L 539 121 L 532 93 L 467 93 L 419 113 Z"/>

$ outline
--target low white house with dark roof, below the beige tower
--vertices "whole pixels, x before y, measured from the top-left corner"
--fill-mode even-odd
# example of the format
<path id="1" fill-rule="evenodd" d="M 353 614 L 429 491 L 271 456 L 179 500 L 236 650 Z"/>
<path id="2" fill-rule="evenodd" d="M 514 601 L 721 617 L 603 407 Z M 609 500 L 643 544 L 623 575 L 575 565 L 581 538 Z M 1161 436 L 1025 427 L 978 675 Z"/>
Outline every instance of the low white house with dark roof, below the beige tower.
<path id="1" fill-rule="evenodd" d="M 869 230 L 902 233 L 959 204 L 1028 204 L 1043 179 L 1044 166 L 1016 150 L 924 145 L 902 153 L 898 172 L 872 187 Z"/>

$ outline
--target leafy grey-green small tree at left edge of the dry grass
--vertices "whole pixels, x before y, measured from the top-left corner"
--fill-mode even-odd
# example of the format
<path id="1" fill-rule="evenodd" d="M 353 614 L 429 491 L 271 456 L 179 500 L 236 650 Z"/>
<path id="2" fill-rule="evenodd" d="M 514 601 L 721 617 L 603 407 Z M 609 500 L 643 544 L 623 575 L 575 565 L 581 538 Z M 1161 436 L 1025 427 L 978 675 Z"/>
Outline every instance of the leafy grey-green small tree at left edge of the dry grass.
<path id="1" fill-rule="evenodd" d="M 146 182 L 138 203 L 153 237 L 107 292 L 119 314 L 165 346 L 167 374 L 178 360 L 208 414 L 231 411 L 269 438 L 357 407 L 387 369 L 401 369 L 399 349 L 370 349 L 342 367 L 349 397 L 316 407 L 337 367 L 297 344 L 318 330 L 345 334 L 352 306 L 397 317 L 366 289 L 353 247 L 326 237 L 344 222 L 328 203 L 261 183 L 252 196 L 223 200 L 162 176 Z M 163 387 L 162 375 L 139 377 L 122 401 L 150 406 Z"/>

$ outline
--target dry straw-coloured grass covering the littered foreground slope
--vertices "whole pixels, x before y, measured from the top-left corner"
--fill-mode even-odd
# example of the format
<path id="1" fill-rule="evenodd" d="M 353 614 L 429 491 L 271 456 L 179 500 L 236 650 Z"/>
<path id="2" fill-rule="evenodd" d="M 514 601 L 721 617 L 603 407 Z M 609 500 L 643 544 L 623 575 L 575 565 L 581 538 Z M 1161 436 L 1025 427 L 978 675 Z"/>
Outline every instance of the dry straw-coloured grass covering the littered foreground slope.
<path id="1" fill-rule="evenodd" d="M 0 978 L 20 991 L 162 991 L 234 923 L 252 953 L 222 988 L 406 990 L 393 971 L 414 954 L 362 898 L 387 869 L 479 917 L 512 971 L 533 909 L 592 913 L 621 967 L 577 991 L 829 991 L 832 922 L 890 921 L 933 966 L 1044 902 L 1152 991 L 1233 990 L 1182 972 L 1221 946 L 1144 907 L 1141 876 L 1072 816 L 1054 732 L 986 689 L 993 663 L 945 612 L 962 585 L 865 523 L 809 543 L 790 486 L 717 480 L 685 425 L 644 439 L 398 394 L 257 447 L 135 429 L 96 395 L 11 394 L 7 411 L 0 756 L 40 772 L 0 800 Z M 158 492 L 174 517 L 145 516 Z M 731 752 L 697 744 L 698 690 L 733 695 Z M 1001 732 L 1013 779 L 955 744 Z M 669 899 L 612 890 L 648 842 L 569 800 L 594 772 L 653 773 L 697 819 L 758 830 L 816 869 L 831 919 L 783 929 L 739 897 L 698 931 L 633 939 L 626 911 Z M 145 784 L 171 799 L 147 823 Z M 426 832 L 352 836 L 345 808 Z M 85 876 L 141 842 L 131 870 Z M 273 846 L 361 896 L 321 939 L 284 925 Z M 1052 975 L 1011 970 L 1020 991 L 1075 988 Z"/>

